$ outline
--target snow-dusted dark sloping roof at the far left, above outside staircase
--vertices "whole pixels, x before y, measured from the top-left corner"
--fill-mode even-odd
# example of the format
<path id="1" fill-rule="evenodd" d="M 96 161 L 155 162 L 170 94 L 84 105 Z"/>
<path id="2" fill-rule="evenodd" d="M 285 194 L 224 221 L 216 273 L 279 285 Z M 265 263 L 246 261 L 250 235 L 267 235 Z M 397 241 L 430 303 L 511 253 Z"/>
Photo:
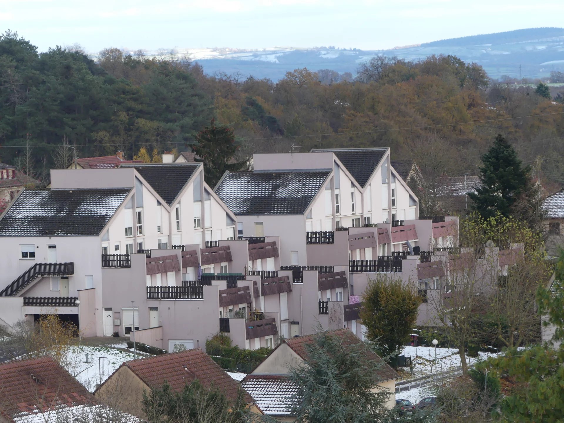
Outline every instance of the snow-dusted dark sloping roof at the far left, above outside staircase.
<path id="1" fill-rule="evenodd" d="M 0 236 L 96 236 L 131 188 L 23 190 L 0 219 Z"/>

